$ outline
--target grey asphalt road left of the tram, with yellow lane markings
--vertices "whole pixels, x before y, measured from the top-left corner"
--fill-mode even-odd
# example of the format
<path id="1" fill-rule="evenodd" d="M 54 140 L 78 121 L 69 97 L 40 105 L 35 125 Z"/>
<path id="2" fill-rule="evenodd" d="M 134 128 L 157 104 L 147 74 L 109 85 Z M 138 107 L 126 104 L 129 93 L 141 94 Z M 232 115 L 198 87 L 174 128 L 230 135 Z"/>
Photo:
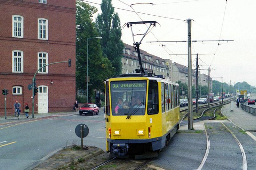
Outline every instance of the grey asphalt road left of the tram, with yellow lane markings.
<path id="1" fill-rule="evenodd" d="M 32 169 L 52 152 L 74 143 L 78 124 L 84 123 L 89 134 L 84 145 L 105 150 L 105 119 L 99 115 L 56 115 L 37 119 L 0 121 L 0 169 Z"/>

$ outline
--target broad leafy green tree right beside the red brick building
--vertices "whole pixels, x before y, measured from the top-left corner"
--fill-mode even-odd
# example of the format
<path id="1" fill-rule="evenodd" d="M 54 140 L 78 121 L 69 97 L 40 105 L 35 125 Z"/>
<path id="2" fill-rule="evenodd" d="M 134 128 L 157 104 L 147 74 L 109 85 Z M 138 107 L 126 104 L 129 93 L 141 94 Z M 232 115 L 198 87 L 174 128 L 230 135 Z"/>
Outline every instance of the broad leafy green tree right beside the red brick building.
<path id="1" fill-rule="evenodd" d="M 102 56 L 100 40 L 89 40 L 87 63 L 87 38 L 97 37 L 93 14 L 97 12 L 94 6 L 81 1 L 76 1 L 76 88 L 86 90 L 86 75 L 90 76 L 89 93 L 92 96 L 93 89 L 103 90 L 102 81 L 113 75 L 114 68 L 108 58 Z M 93 88 L 92 88 L 93 87 Z"/>

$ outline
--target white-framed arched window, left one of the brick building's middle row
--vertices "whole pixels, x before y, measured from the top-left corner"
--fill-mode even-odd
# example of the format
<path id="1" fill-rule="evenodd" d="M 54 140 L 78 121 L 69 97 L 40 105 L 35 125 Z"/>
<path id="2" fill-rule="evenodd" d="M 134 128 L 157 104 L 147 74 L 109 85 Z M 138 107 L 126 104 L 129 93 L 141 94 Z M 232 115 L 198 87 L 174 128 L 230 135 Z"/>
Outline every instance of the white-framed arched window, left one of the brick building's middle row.
<path id="1" fill-rule="evenodd" d="M 12 51 L 12 72 L 23 73 L 23 51 Z"/>

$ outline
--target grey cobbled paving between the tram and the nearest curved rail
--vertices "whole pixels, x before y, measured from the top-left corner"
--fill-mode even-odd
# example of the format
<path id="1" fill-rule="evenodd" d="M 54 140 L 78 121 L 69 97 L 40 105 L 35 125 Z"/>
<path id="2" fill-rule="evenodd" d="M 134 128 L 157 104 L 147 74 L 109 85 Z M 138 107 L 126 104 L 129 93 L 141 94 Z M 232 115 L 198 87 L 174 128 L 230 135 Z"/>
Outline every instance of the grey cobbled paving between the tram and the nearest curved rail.
<path id="1" fill-rule="evenodd" d="M 205 149 L 204 131 L 179 132 L 174 135 L 164 151 L 160 152 L 158 159 L 154 159 L 150 164 L 166 170 L 197 169 L 204 157 Z"/>

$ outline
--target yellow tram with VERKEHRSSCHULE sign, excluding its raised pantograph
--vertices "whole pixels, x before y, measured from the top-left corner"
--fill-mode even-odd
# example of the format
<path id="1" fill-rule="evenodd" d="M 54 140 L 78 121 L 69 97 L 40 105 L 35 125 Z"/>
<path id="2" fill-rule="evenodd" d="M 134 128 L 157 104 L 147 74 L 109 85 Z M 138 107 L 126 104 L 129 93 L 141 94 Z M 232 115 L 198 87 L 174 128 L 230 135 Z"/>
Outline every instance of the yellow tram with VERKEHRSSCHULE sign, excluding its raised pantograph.
<path id="1" fill-rule="evenodd" d="M 160 77 L 134 73 L 105 81 L 106 150 L 113 157 L 156 155 L 179 129 L 179 84 Z"/>

